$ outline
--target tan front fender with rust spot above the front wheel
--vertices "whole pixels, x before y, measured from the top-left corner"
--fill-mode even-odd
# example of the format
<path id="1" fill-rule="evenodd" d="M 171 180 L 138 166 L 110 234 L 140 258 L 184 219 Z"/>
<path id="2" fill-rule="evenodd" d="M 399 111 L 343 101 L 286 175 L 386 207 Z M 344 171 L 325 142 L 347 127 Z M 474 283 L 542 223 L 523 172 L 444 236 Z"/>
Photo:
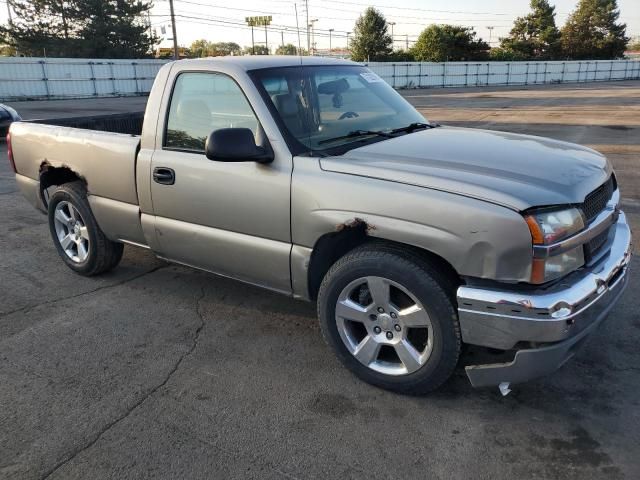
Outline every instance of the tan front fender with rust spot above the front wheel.
<path id="1" fill-rule="evenodd" d="M 531 276 L 531 234 L 514 210 L 434 189 L 323 171 L 315 159 L 295 162 L 294 246 L 312 250 L 322 236 L 363 222 L 367 235 L 425 249 L 461 276 L 503 282 L 526 282 Z"/>

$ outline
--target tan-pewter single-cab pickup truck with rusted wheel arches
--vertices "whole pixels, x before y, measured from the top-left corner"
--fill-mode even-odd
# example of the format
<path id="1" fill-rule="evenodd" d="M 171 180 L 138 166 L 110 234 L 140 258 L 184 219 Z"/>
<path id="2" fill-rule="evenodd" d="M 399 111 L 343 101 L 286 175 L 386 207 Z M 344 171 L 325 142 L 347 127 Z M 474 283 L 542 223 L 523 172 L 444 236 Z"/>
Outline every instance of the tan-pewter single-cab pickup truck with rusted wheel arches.
<path id="1" fill-rule="evenodd" d="M 473 386 L 549 374 L 627 284 L 603 155 L 430 123 L 348 61 L 173 62 L 142 132 L 16 122 L 8 145 L 75 272 L 129 244 L 315 301 L 339 360 L 397 392 L 442 385 L 463 344 L 495 358 L 465 366 Z"/>

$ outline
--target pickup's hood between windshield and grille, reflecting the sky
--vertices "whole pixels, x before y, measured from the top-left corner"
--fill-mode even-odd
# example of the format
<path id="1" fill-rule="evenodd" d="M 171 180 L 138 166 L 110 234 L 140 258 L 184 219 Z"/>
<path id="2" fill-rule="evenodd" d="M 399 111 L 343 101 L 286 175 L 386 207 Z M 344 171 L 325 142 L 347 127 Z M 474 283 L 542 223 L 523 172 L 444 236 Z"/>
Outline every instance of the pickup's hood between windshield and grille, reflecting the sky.
<path id="1" fill-rule="evenodd" d="M 611 165 L 590 148 L 490 130 L 440 127 L 320 159 L 323 170 L 433 188 L 514 210 L 581 203 Z"/>

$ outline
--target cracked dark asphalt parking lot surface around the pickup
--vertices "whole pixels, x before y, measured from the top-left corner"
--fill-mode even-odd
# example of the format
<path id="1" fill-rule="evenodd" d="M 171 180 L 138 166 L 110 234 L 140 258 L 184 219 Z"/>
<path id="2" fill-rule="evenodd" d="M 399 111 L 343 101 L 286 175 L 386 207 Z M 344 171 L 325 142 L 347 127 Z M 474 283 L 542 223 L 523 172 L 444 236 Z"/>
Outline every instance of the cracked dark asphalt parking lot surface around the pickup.
<path id="1" fill-rule="evenodd" d="M 430 120 L 545 135 L 612 159 L 640 226 L 640 82 L 403 94 Z M 143 98 L 13 103 L 25 118 Z M 406 397 L 358 381 L 314 306 L 126 247 L 73 274 L 0 144 L 0 478 L 640 478 L 640 273 L 561 370 Z M 469 361 L 468 353 L 463 361 Z"/>

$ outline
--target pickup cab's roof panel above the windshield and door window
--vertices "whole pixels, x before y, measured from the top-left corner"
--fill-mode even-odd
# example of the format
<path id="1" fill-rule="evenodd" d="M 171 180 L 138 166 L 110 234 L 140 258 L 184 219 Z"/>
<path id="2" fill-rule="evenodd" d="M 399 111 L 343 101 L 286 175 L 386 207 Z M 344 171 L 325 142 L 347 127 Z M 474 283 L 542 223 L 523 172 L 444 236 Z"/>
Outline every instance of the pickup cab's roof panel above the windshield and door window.
<path id="1" fill-rule="evenodd" d="M 181 64 L 190 63 L 198 66 L 215 66 L 221 63 L 232 64 L 243 70 L 258 70 L 273 67 L 295 67 L 300 65 L 359 65 L 350 60 L 326 57 L 307 57 L 294 55 L 244 55 L 227 57 L 207 57 L 179 60 Z"/>

